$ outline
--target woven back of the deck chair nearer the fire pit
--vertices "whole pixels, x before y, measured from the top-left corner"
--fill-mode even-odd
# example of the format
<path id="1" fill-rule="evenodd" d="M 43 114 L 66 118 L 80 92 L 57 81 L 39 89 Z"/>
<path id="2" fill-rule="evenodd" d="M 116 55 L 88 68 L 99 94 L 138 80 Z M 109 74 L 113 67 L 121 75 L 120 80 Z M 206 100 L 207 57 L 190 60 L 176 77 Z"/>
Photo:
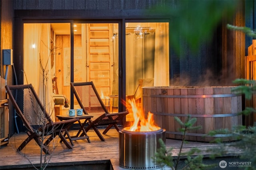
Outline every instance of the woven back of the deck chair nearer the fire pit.
<path id="1" fill-rule="evenodd" d="M 111 121 L 115 119 L 114 117 L 108 116 L 110 113 L 102 102 L 93 82 L 71 82 L 71 87 L 80 107 L 84 109 L 85 114 L 93 116 L 92 121 L 103 114 L 106 116 L 102 118 L 103 121 Z"/>

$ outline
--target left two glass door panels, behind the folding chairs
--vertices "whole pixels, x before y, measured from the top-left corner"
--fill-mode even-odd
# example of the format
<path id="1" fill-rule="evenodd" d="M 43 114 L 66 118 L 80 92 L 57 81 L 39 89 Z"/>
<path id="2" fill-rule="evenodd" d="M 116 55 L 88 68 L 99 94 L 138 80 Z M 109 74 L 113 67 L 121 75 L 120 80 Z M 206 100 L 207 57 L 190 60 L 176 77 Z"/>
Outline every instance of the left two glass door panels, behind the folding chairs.
<path id="1" fill-rule="evenodd" d="M 74 82 L 92 81 L 109 111 L 118 111 L 118 58 L 118 23 L 24 23 L 24 84 L 33 84 L 51 110 L 60 95 L 60 112 L 79 107 L 70 96 L 73 75 Z"/>

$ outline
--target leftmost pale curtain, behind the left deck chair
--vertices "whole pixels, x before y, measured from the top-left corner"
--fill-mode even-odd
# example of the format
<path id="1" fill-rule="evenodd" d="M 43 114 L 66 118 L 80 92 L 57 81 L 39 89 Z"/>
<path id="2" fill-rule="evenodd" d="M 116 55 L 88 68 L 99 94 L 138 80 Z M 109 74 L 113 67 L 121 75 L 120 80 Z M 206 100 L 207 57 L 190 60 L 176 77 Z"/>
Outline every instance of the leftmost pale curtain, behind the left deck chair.
<path id="1" fill-rule="evenodd" d="M 25 23 L 24 84 L 33 85 L 46 111 L 55 121 L 50 52 L 50 23 Z"/>

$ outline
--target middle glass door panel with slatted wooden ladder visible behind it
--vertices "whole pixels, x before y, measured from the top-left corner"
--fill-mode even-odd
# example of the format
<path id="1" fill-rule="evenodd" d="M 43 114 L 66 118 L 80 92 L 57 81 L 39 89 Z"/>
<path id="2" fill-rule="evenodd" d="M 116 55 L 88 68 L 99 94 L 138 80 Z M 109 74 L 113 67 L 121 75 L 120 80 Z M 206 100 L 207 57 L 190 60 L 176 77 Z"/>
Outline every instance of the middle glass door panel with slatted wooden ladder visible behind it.
<path id="1" fill-rule="evenodd" d="M 74 82 L 92 81 L 109 111 L 118 111 L 118 23 L 76 23 L 75 28 L 81 31 L 74 32 Z"/>

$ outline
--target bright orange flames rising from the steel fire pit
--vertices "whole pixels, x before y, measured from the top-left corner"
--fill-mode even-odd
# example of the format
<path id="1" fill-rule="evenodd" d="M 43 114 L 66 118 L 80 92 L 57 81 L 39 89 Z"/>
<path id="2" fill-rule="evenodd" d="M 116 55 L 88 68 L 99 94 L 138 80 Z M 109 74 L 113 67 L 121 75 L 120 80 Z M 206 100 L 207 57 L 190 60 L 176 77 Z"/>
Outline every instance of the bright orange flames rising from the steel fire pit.
<path id="1" fill-rule="evenodd" d="M 141 107 L 135 102 L 135 99 L 129 99 L 127 102 L 127 109 L 130 113 L 133 114 L 134 122 L 130 126 L 129 131 L 140 131 L 140 132 L 148 132 L 148 131 L 157 131 L 160 129 L 154 123 L 153 114 L 148 112 L 147 115 L 144 114 L 144 111 Z M 146 117 L 147 116 L 147 117 Z"/>

